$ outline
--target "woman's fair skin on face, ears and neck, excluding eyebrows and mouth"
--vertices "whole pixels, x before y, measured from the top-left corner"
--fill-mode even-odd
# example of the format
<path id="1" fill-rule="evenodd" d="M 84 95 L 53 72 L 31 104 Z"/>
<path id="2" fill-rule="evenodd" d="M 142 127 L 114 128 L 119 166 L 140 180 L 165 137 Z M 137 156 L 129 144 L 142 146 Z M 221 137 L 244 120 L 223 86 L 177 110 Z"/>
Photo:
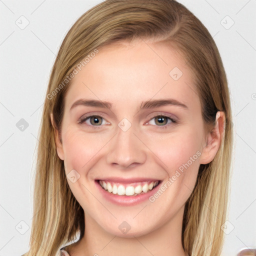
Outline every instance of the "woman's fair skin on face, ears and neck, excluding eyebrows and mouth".
<path id="1" fill-rule="evenodd" d="M 185 63 L 161 42 L 122 41 L 100 48 L 73 78 L 65 96 L 61 142 L 55 130 L 65 173 L 75 169 L 80 175 L 76 182 L 68 178 L 67 182 L 85 212 L 85 235 L 67 247 L 70 256 L 185 255 L 184 204 L 199 165 L 214 158 L 224 124 L 224 113 L 219 111 L 211 132 L 204 129 L 192 72 Z M 173 67 L 183 73 L 176 81 L 169 75 Z M 112 107 L 79 105 L 69 110 L 80 98 L 106 100 Z M 165 98 L 176 99 L 187 109 L 164 105 L 138 111 L 142 101 Z M 101 126 L 93 118 L 78 123 L 85 114 L 101 115 Z M 160 114 L 175 116 L 177 123 L 164 118 L 162 128 L 154 118 Z M 126 131 L 118 127 L 124 117 L 131 123 Z M 54 125 L 52 115 L 51 120 Z M 154 202 L 116 205 L 104 199 L 94 184 L 95 178 L 111 176 L 151 177 L 164 184 L 196 151 L 200 156 Z M 125 234 L 118 228 L 123 221 L 131 227 Z"/>

